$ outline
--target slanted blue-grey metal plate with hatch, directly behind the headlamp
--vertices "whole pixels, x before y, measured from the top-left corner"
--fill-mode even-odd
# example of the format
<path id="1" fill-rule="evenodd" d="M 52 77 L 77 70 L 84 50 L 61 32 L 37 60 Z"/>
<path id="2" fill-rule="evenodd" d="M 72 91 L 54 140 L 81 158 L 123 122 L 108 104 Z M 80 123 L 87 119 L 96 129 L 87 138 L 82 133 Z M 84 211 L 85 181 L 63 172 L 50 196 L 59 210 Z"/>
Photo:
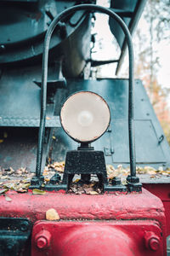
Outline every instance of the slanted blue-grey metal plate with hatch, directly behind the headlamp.
<path id="1" fill-rule="evenodd" d="M 96 150 L 106 150 L 107 164 L 128 165 L 128 81 L 127 79 L 100 79 L 97 81 L 69 80 L 68 96 L 79 90 L 91 90 L 104 97 L 111 109 L 111 129 L 92 145 Z M 135 82 L 135 137 L 137 164 L 141 166 L 169 166 L 170 148 L 167 140 L 158 143 L 163 135 L 161 125 L 146 95 L 143 84 Z M 68 149 L 76 149 L 77 143 L 65 135 L 61 128 L 55 131 L 53 159 L 65 160 Z M 108 152 L 112 154 L 107 154 Z"/>

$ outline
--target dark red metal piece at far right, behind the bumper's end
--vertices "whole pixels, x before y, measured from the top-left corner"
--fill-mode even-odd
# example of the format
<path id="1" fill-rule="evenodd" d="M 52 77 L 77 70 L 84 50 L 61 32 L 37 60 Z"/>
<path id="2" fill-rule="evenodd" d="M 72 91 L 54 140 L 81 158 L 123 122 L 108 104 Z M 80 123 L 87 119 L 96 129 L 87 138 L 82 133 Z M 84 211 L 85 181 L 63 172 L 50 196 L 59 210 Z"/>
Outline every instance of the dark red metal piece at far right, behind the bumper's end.
<path id="1" fill-rule="evenodd" d="M 144 188 L 161 199 L 165 208 L 167 236 L 170 236 L 170 184 L 144 184 Z"/>

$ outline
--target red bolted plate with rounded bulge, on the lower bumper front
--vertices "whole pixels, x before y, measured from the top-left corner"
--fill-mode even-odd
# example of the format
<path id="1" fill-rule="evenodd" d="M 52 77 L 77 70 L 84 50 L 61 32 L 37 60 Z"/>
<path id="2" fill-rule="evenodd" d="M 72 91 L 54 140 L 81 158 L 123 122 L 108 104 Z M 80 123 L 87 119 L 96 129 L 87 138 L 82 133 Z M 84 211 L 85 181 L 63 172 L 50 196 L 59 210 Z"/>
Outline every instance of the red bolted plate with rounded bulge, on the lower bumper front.
<path id="1" fill-rule="evenodd" d="M 42 230 L 52 235 L 46 249 L 38 248 L 35 239 Z M 145 241 L 147 234 L 149 247 Z M 153 243 L 153 239 L 159 244 Z M 37 222 L 32 232 L 31 255 L 54 256 L 56 253 L 58 256 L 164 255 L 161 229 L 156 221 Z"/>

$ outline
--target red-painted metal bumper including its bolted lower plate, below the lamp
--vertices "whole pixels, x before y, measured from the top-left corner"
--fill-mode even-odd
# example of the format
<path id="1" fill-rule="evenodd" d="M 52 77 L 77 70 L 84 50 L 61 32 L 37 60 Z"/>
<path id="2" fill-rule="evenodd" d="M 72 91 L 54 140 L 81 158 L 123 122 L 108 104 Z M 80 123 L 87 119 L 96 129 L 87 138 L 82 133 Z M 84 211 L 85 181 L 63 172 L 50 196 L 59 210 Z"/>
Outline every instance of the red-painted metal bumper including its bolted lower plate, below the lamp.
<path id="1" fill-rule="evenodd" d="M 8 196 L 12 201 L 0 196 L 0 216 L 31 220 L 33 256 L 166 255 L 164 207 L 145 189 L 128 195 L 9 192 Z M 45 221 L 50 208 L 59 213 L 59 222 Z M 42 231 L 46 237 L 37 241 Z"/>

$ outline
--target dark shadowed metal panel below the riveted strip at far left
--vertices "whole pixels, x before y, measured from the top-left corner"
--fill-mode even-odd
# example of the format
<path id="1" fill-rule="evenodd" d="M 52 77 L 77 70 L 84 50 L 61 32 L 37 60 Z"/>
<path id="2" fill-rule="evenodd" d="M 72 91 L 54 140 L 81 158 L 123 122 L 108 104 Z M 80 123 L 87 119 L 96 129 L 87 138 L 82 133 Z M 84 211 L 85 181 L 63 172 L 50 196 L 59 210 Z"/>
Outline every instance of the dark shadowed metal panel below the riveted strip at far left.
<path id="1" fill-rule="evenodd" d="M 7 134 L 3 138 L 3 133 Z M 38 129 L 29 128 L 0 128 L 0 166 L 8 169 L 10 166 L 17 170 L 21 167 L 29 172 L 35 172 L 37 159 Z M 42 168 L 45 166 L 48 155 L 49 141 L 44 143 L 42 155 Z"/>

